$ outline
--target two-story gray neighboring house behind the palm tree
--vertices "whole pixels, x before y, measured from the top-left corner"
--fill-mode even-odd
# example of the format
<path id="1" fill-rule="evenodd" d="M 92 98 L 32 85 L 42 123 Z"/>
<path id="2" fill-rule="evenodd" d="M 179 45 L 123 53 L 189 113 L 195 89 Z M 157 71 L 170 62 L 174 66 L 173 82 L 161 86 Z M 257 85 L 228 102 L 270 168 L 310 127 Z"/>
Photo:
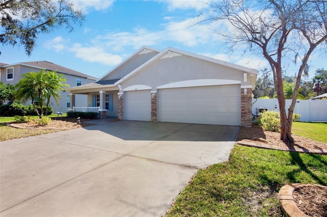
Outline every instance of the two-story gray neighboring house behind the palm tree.
<path id="1" fill-rule="evenodd" d="M 5 84 L 15 85 L 22 74 L 27 72 L 39 72 L 42 69 L 45 69 L 46 71 L 56 71 L 59 74 L 63 74 L 66 78 L 66 84 L 71 88 L 95 82 L 95 80 L 97 80 L 96 77 L 48 61 L 35 61 L 14 64 L 0 63 L 0 81 Z M 77 105 L 79 106 L 82 106 L 87 102 L 87 95 L 79 94 L 76 97 L 78 98 Z M 31 104 L 31 102 L 26 102 L 25 104 Z M 57 109 L 58 112 L 67 112 L 71 106 L 69 102 L 69 91 L 61 93 L 59 105 L 57 105 L 54 99 L 51 99 L 50 104 L 53 106 L 54 111 Z"/>

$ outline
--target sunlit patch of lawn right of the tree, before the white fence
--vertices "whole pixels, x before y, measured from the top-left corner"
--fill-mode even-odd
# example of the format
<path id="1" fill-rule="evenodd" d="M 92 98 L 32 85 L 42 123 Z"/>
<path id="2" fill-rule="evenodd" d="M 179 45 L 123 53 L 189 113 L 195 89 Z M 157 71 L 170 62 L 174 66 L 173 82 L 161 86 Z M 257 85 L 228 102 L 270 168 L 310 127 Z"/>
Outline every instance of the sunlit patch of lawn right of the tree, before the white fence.
<path id="1" fill-rule="evenodd" d="M 292 133 L 327 143 L 327 123 L 293 122 Z"/>

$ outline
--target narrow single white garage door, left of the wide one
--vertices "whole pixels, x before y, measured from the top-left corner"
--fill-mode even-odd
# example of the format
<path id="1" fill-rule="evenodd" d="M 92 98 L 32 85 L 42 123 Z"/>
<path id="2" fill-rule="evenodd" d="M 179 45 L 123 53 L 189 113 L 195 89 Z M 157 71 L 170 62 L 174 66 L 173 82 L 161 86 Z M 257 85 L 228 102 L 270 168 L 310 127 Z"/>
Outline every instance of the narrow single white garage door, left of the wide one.
<path id="1" fill-rule="evenodd" d="M 150 90 L 126 91 L 124 119 L 133 121 L 151 121 Z"/>

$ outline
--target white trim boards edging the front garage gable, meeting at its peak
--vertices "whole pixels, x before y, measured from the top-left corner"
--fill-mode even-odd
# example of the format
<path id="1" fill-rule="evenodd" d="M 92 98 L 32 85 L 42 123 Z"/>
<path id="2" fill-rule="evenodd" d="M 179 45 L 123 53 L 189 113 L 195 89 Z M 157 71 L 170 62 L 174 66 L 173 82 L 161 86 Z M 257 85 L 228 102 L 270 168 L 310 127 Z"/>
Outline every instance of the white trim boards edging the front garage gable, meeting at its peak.
<path id="1" fill-rule="evenodd" d="M 173 58 L 173 57 L 182 56 L 182 55 L 194 57 L 194 58 L 197 58 L 197 59 L 200 59 L 200 60 L 204 60 L 204 61 L 208 61 L 208 62 L 211 62 L 211 63 L 214 63 L 214 64 L 218 64 L 218 65 L 223 65 L 223 66 L 226 66 L 226 67 L 229 67 L 229 68 L 245 71 L 245 72 L 248 72 L 248 73 L 250 73 L 252 75 L 258 74 L 258 70 L 255 70 L 255 69 L 251 69 L 251 68 L 240 66 L 240 65 L 237 65 L 237 64 L 233 64 L 233 63 L 228 63 L 228 62 L 225 62 L 225 61 L 222 61 L 222 60 L 217 60 L 217 59 L 214 59 L 214 58 L 205 57 L 205 56 L 202 56 L 202 55 L 197 55 L 196 53 L 191 53 L 191 52 L 187 52 L 187 51 L 184 51 L 184 50 L 179 50 L 179 49 L 176 49 L 176 48 L 173 48 L 173 47 L 167 47 L 165 50 L 162 50 L 160 53 L 158 53 L 152 59 L 150 59 L 149 61 L 147 61 L 143 65 L 137 67 L 132 72 L 130 72 L 129 74 L 127 74 L 126 76 L 124 76 L 123 78 L 118 80 L 118 82 L 116 82 L 114 85 L 118 85 L 118 84 L 122 83 L 126 79 L 130 78 L 134 74 L 141 71 L 143 68 L 148 67 L 149 65 L 153 64 L 154 62 L 156 62 L 159 59 Z"/>

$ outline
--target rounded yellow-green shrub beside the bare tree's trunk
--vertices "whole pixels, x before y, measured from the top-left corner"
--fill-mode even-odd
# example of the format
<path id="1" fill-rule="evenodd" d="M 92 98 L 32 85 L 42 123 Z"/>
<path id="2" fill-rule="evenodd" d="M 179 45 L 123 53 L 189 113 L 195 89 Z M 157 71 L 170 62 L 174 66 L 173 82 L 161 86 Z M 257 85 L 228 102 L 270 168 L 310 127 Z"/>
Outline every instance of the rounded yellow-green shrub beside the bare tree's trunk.
<path id="1" fill-rule="evenodd" d="M 272 132 L 279 132 L 281 128 L 281 119 L 276 111 L 265 111 L 260 113 L 258 123 L 262 128 Z"/>

